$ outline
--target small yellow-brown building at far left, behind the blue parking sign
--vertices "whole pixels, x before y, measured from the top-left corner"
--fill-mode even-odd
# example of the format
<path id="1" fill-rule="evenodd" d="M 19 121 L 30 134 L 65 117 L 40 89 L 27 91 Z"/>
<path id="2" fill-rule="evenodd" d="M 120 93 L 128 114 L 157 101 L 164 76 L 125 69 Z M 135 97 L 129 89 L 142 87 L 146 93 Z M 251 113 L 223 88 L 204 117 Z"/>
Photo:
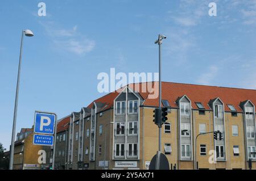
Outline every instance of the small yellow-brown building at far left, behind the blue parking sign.
<path id="1" fill-rule="evenodd" d="M 49 146 L 33 145 L 34 128 L 22 128 L 17 133 L 14 145 L 14 170 L 45 170 L 49 169 Z M 45 151 L 45 163 L 39 163 L 40 150 Z"/>

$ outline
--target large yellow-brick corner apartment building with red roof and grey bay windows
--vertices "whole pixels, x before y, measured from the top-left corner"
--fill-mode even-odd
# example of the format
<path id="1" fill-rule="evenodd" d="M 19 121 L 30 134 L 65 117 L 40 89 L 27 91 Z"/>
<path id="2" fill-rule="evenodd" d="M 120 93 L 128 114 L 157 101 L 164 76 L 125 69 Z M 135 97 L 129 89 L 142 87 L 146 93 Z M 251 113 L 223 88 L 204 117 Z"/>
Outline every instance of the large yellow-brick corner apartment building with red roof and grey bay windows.
<path id="1" fill-rule="evenodd" d="M 158 150 L 152 85 L 127 85 L 72 112 L 69 169 L 147 169 Z M 256 90 L 162 82 L 162 152 L 176 169 L 249 169 L 249 160 L 256 169 L 255 104 Z M 223 138 L 198 136 L 214 131 Z"/>

